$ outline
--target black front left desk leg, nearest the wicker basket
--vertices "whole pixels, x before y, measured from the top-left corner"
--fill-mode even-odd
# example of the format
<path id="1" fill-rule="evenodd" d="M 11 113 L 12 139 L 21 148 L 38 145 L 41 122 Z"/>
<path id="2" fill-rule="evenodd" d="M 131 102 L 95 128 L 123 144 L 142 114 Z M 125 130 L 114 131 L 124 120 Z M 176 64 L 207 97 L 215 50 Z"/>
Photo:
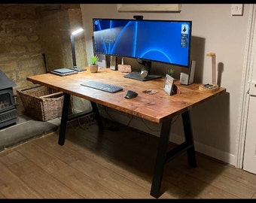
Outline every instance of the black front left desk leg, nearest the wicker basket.
<path id="1" fill-rule="evenodd" d="M 61 116 L 60 127 L 59 127 L 59 145 L 63 145 L 65 142 L 66 126 L 67 126 L 68 114 L 69 114 L 69 102 L 70 102 L 70 95 L 67 93 L 64 93 L 62 116 Z"/>

